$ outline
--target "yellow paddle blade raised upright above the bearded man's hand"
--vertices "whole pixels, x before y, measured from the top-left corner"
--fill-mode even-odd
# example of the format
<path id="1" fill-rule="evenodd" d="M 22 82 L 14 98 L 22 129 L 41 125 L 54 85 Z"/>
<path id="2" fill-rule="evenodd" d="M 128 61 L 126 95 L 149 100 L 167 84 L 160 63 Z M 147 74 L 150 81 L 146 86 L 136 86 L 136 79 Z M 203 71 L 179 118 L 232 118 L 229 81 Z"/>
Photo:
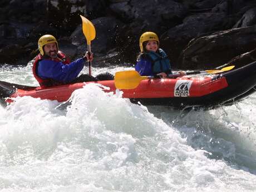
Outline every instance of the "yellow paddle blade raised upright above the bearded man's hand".
<path id="1" fill-rule="evenodd" d="M 93 26 L 91 21 L 81 16 L 81 14 L 80 17 L 82 18 L 83 35 L 85 35 L 87 45 L 91 45 L 91 41 L 94 40 L 96 36 L 95 27 Z"/>

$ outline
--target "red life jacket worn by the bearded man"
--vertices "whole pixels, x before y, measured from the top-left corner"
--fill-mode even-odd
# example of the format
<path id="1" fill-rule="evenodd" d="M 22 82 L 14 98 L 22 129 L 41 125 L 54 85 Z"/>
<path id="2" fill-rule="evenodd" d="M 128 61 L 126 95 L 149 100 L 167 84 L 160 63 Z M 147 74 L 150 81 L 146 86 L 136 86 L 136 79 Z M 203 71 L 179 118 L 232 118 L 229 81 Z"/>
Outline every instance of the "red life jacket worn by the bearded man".
<path id="1" fill-rule="evenodd" d="M 61 51 L 58 51 L 57 58 L 50 58 L 50 57 L 46 58 L 46 57 L 43 57 L 41 54 L 38 54 L 35 57 L 35 61 L 33 62 L 33 67 L 32 67 L 33 75 L 42 88 L 56 86 L 56 85 L 62 85 L 63 83 L 57 82 L 56 80 L 53 80 L 52 78 L 43 79 L 37 75 L 38 63 L 41 60 L 51 60 L 51 61 L 56 61 L 56 62 L 62 62 L 63 64 L 68 65 L 70 63 L 70 59 L 67 58 L 67 56 L 64 53 L 62 53 Z"/>

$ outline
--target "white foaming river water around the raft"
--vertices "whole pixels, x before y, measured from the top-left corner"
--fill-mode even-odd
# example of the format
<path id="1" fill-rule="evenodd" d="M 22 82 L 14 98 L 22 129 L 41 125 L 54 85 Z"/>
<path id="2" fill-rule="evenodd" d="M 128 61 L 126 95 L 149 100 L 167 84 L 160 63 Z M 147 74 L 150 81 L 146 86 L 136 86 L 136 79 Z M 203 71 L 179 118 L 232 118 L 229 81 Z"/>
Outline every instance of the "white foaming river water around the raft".
<path id="1" fill-rule="evenodd" d="M 2 66 L 0 80 L 38 85 L 31 71 Z M 255 106 L 256 93 L 178 111 L 92 84 L 69 104 L 18 98 L 0 106 L 0 191 L 256 191 Z"/>

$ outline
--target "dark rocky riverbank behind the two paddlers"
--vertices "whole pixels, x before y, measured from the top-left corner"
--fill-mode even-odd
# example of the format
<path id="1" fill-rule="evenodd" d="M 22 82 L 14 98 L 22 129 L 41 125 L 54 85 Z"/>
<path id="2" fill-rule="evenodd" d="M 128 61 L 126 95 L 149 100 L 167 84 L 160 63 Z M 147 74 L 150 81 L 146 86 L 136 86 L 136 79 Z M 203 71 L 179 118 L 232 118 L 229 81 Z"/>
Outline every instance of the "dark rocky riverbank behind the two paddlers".
<path id="1" fill-rule="evenodd" d="M 80 14 L 92 21 L 93 65 L 134 64 L 154 31 L 174 68 L 243 66 L 256 59 L 256 2 L 245 0 L 2 0 L 0 63 L 27 65 L 50 33 L 71 58 L 86 51 Z"/>

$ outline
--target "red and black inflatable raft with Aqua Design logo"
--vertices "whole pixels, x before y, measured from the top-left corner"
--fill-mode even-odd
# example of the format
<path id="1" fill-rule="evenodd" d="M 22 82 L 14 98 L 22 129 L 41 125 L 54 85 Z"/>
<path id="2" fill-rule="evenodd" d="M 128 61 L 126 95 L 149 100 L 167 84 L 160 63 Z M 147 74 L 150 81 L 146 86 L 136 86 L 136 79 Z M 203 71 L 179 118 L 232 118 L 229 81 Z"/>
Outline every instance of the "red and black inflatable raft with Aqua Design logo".
<path id="1" fill-rule="evenodd" d="M 14 97 L 67 101 L 72 92 L 88 83 L 100 83 L 115 92 L 115 81 L 81 82 L 42 89 L 0 81 L 2 98 L 12 102 Z M 174 107 L 214 107 L 230 104 L 254 92 L 256 86 L 256 62 L 244 67 L 206 76 L 183 76 L 178 78 L 147 79 L 136 88 L 124 89 L 123 97 L 143 105 L 165 105 Z M 6 99 L 6 97 L 8 97 Z"/>

